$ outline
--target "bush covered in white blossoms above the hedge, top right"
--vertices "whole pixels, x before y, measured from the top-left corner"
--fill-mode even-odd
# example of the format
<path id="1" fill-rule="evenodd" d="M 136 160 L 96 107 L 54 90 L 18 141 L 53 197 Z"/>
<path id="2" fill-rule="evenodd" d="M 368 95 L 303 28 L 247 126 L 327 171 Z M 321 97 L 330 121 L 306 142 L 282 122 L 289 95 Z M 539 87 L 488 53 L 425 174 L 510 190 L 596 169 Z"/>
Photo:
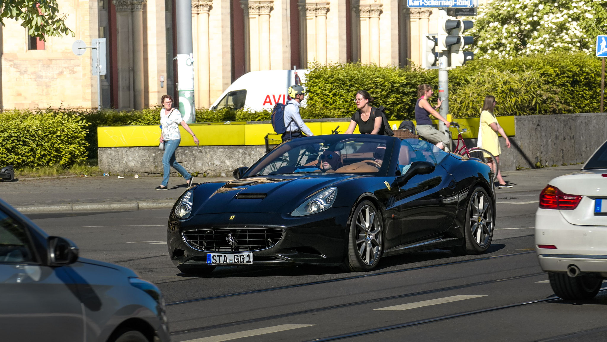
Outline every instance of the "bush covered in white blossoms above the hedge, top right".
<path id="1" fill-rule="evenodd" d="M 492 0 L 470 17 L 478 58 L 546 52 L 594 53 L 607 33 L 605 0 Z"/>

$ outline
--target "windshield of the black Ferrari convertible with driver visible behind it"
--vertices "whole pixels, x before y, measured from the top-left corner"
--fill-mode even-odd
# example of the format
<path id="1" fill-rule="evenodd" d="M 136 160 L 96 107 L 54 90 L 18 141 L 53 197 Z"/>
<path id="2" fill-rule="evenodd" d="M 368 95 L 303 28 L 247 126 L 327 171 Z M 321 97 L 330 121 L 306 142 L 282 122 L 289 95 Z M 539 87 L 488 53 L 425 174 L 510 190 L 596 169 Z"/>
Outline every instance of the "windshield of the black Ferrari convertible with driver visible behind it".
<path id="1" fill-rule="evenodd" d="M 319 135 L 291 140 L 270 151 L 243 177 L 272 174 L 385 174 L 392 139 L 382 135 Z"/>

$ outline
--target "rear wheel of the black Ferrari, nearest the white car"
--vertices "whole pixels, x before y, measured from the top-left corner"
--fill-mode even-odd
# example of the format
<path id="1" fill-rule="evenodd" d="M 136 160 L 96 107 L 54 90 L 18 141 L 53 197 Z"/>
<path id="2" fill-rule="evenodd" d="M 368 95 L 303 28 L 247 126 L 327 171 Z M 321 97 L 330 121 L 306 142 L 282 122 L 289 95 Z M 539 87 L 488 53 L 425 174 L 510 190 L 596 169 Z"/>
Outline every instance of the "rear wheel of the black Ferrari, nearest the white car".
<path id="1" fill-rule="evenodd" d="M 482 186 L 476 186 L 466 208 L 464 243 L 461 247 L 453 248 L 453 253 L 458 255 L 484 253 L 493 239 L 493 217 L 495 214 L 489 194 Z"/>

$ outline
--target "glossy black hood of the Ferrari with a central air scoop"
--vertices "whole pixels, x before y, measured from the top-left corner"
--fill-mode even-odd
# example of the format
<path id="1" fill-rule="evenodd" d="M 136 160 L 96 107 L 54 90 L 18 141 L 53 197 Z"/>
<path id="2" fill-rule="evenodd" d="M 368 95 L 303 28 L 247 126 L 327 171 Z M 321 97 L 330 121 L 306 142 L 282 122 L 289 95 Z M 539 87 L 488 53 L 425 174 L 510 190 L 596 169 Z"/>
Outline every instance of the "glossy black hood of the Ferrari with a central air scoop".
<path id="1" fill-rule="evenodd" d="M 290 213 L 317 191 L 356 177 L 364 176 L 273 175 L 205 183 L 194 190 L 194 211 L 196 214 Z"/>

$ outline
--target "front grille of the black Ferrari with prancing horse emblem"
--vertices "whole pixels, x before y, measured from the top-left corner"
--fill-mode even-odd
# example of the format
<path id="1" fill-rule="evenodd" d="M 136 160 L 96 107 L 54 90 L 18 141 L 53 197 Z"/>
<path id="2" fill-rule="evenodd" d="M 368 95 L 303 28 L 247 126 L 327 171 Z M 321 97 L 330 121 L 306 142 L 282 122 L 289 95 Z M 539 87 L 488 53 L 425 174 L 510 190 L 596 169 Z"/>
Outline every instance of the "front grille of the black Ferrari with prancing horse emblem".
<path id="1" fill-rule="evenodd" d="M 183 232 L 192 248 L 202 251 L 253 251 L 270 248 L 280 241 L 281 229 L 231 228 L 201 229 Z"/>

